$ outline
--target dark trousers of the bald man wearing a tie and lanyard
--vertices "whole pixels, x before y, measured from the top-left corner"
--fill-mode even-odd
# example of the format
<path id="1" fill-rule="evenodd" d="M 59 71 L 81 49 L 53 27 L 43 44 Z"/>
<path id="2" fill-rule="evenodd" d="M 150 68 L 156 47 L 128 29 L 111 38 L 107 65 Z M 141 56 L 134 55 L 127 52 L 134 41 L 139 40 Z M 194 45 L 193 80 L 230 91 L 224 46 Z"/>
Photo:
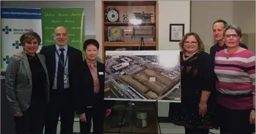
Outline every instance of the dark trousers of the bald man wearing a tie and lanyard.
<path id="1" fill-rule="evenodd" d="M 45 134 L 56 134 L 61 119 L 60 133 L 72 134 L 75 116 L 74 98 L 70 89 L 51 90 L 45 121 Z"/>

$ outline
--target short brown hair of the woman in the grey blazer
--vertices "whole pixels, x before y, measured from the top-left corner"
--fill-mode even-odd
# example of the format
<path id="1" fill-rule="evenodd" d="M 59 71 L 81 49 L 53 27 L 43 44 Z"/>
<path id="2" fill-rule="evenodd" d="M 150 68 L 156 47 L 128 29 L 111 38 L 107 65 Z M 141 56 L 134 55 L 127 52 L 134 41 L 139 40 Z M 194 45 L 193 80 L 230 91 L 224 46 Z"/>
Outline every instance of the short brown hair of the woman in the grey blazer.
<path id="1" fill-rule="evenodd" d="M 40 35 L 38 35 L 38 33 L 35 33 L 34 31 L 29 31 L 27 33 L 24 33 L 23 35 L 21 35 L 21 37 L 19 38 L 19 41 L 21 42 L 22 46 L 25 46 L 25 43 L 29 43 L 30 41 L 32 41 L 33 39 L 37 39 L 38 44 L 40 45 L 41 43 L 41 37 Z"/>

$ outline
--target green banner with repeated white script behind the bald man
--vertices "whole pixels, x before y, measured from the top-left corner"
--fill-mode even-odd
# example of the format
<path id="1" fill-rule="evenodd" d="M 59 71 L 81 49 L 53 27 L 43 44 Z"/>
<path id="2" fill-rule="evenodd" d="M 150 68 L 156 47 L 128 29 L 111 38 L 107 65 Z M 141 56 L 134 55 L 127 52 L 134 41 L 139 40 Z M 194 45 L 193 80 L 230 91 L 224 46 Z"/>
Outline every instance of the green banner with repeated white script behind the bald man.
<path id="1" fill-rule="evenodd" d="M 69 45 L 83 50 L 84 44 L 84 9 L 61 8 L 41 9 L 43 46 L 53 45 L 54 29 L 58 26 L 68 28 Z"/>

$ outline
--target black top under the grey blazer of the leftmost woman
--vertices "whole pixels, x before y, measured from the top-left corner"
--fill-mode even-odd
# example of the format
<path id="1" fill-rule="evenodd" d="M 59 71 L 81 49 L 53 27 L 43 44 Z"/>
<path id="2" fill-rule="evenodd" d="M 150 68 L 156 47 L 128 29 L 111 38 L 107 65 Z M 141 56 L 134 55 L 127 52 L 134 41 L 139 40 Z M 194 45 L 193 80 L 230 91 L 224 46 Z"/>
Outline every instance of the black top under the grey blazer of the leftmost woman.
<path id="1" fill-rule="evenodd" d="M 43 69 L 43 65 L 41 65 L 37 55 L 35 55 L 35 57 L 27 55 L 27 60 L 29 61 L 29 67 L 32 75 L 31 103 L 33 101 L 45 102 L 44 86 L 46 81 L 46 73 Z"/>

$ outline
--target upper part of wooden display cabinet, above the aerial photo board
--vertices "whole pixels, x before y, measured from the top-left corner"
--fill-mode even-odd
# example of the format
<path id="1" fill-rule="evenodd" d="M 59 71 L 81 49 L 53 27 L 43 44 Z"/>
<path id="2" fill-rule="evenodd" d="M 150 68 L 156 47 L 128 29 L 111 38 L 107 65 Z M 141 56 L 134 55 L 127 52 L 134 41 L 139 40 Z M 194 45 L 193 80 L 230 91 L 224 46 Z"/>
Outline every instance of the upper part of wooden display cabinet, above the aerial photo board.
<path id="1" fill-rule="evenodd" d="M 157 1 L 102 1 L 102 49 L 157 50 Z"/>

